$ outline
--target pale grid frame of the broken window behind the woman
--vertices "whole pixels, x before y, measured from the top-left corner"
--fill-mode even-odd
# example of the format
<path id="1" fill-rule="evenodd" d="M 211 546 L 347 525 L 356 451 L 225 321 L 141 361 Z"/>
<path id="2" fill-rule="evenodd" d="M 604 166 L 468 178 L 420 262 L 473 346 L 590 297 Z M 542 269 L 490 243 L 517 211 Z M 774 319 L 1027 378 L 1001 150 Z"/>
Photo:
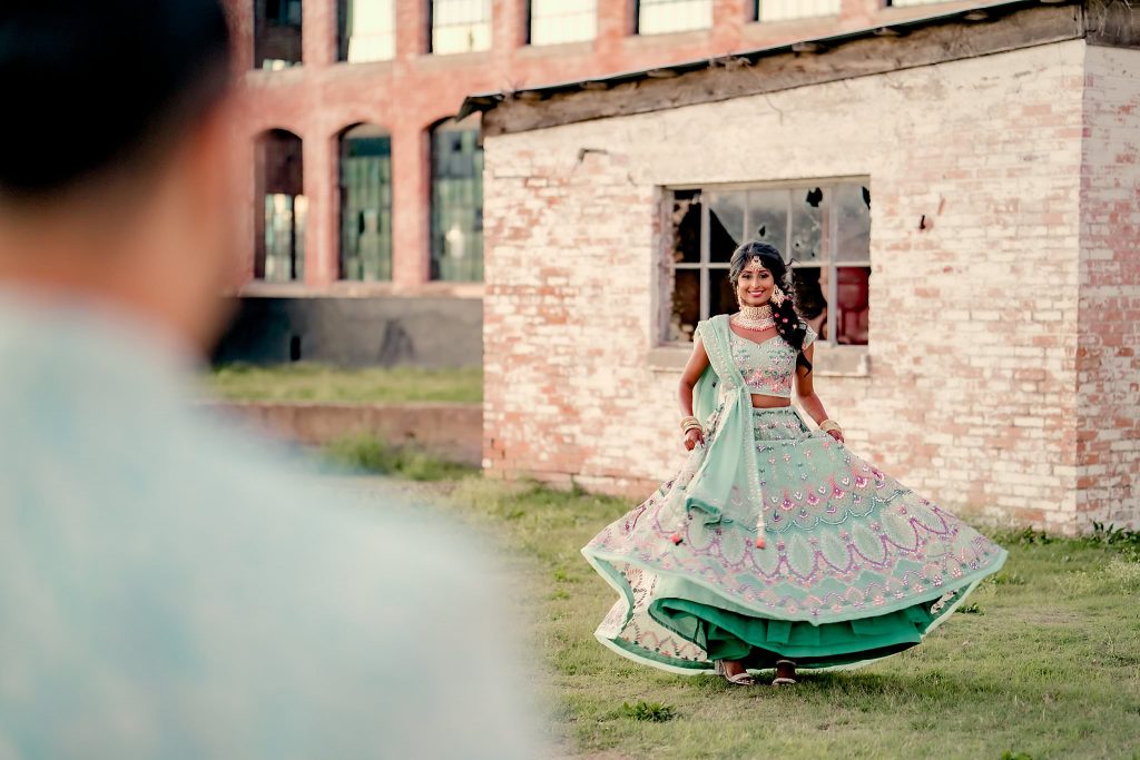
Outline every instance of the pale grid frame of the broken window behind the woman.
<path id="1" fill-rule="evenodd" d="M 685 348 L 692 345 L 692 342 L 683 341 L 670 341 L 668 340 L 669 329 L 669 316 L 671 313 L 673 304 L 673 291 L 669 289 L 675 286 L 675 275 L 677 270 L 698 270 L 699 271 L 699 288 L 700 288 L 700 302 L 698 305 L 698 319 L 703 320 L 709 318 L 709 312 L 711 309 L 711 278 L 710 272 L 712 270 L 727 270 L 728 263 L 724 262 L 712 262 L 710 255 L 710 243 L 711 243 L 711 209 L 710 204 L 707 202 L 707 196 L 714 193 L 733 193 L 733 191 L 750 191 L 750 190 L 787 190 L 788 191 L 788 220 L 787 229 L 784 232 L 784 245 L 781 247 L 781 253 L 787 256 L 787 252 L 791 250 L 791 237 L 792 237 L 792 190 L 797 189 L 811 189 L 811 188 L 823 188 L 825 190 L 825 203 L 830 205 L 831 198 L 834 196 L 833 189 L 836 186 L 840 185 L 858 185 L 861 187 L 868 188 L 869 191 L 873 190 L 871 186 L 871 178 L 869 175 L 847 175 L 847 177 L 821 177 L 812 179 L 797 179 L 797 180 L 772 180 L 772 181 L 758 181 L 758 182 L 722 182 L 722 183 L 693 183 L 693 185 L 669 185 L 662 188 L 662 210 L 668 211 L 676 198 L 677 193 L 697 193 L 697 202 L 700 203 L 700 258 L 697 262 L 684 263 L 670 260 L 670 253 L 673 252 L 673 228 L 671 226 L 665 226 L 662 229 L 667 230 L 661 238 L 660 255 L 662 259 L 663 267 L 659 269 L 661 272 L 661 280 L 658 283 L 657 295 L 660 299 L 660 309 L 658 310 L 658 329 L 657 329 L 657 345 L 658 348 L 669 349 L 669 348 Z M 830 190 L 830 191 L 828 191 Z M 749 205 L 744 204 L 743 224 L 744 229 L 750 229 L 749 226 Z M 839 300 L 839 269 L 847 268 L 871 268 L 871 256 L 870 246 L 868 248 L 866 259 L 855 259 L 855 260 L 844 260 L 839 261 L 837 258 L 837 247 L 839 242 L 839 214 L 831 213 L 829 207 L 826 214 L 828 224 L 828 250 L 826 258 L 821 259 L 816 262 L 793 262 L 791 269 L 828 269 L 828 303 L 837 303 Z M 870 231 L 869 231 L 870 236 Z M 870 240 L 869 240 L 870 243 Z M 870 341 L 865 344 L 852 344 L 852 343 L 839 343 L 837 334 L 837 320 L 839 310 L 828 309 L 828 338 L 817 341 L 820 344 L 824 344 L 829 350 L 862 350 L 865 351 L 870 345 Z"/>

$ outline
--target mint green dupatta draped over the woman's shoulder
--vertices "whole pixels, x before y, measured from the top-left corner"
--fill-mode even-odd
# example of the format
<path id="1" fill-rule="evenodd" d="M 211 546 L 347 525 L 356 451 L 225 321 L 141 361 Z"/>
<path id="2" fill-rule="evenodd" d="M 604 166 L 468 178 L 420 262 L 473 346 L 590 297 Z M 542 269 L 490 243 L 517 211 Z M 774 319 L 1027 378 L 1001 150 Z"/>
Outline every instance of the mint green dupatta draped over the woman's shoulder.
<path id="1" fill-rule="evenodd" d="M 730 348 L 728 316 L 697 325 L 709 366 L 693 387 L 693 415 L 705 425 L 705 455 L 685 489 L 685 514 L 705 524 L 738 523 L 763 534 L 764 496 L 752 436 L 752 397 Z"/>

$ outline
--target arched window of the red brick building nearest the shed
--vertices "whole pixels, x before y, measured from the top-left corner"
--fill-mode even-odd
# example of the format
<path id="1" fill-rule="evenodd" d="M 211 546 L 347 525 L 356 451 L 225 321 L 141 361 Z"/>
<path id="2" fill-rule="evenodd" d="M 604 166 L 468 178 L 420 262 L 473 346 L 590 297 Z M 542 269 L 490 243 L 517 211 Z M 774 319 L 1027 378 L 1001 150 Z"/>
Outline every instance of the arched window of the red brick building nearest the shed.
<path id="1" fill-rule="evenodd" d="M 431 276 L 483 278 L 483 148 L 478 116 L 431 132 Z"/>

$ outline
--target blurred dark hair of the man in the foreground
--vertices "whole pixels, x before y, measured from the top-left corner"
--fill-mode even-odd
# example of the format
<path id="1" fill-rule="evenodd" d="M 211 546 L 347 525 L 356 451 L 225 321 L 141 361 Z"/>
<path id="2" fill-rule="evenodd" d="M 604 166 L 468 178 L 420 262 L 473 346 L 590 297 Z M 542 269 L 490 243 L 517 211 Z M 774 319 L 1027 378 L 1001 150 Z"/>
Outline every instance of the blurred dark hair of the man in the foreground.
<path id="1" fill-rule="evenodd" d="M 129 177 L 225 96 L 218 0 L 2 0 L 0 198 Z"/>

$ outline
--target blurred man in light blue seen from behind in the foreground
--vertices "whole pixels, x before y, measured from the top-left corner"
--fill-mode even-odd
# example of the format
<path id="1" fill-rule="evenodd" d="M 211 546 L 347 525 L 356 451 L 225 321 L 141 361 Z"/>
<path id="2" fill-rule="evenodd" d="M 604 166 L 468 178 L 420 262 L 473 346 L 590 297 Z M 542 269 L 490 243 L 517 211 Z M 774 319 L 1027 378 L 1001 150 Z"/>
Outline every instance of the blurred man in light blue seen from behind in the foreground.
<path id="1" fill-rule="evenodd" d="M 0 759 L 531 758 L 484 564 L 188 403 L 230 65 L 217 0 L 0 3 Z"/>

